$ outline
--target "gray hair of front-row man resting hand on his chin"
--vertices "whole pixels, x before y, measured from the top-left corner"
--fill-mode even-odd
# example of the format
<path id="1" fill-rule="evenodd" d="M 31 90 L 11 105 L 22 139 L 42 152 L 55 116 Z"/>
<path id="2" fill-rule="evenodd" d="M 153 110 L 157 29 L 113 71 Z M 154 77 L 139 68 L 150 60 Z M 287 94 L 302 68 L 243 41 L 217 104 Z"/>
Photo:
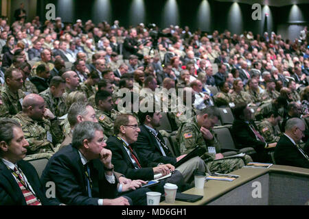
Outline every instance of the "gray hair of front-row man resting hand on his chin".
<path id="1" fill-rule="evenodd" d="M 95 138 L 95 131 L 103 131 L 99 123 L 89 121 L 78 123 L 73 130 L 72 146 L 80 148 L 85 139 L 93 140 Z"/>

